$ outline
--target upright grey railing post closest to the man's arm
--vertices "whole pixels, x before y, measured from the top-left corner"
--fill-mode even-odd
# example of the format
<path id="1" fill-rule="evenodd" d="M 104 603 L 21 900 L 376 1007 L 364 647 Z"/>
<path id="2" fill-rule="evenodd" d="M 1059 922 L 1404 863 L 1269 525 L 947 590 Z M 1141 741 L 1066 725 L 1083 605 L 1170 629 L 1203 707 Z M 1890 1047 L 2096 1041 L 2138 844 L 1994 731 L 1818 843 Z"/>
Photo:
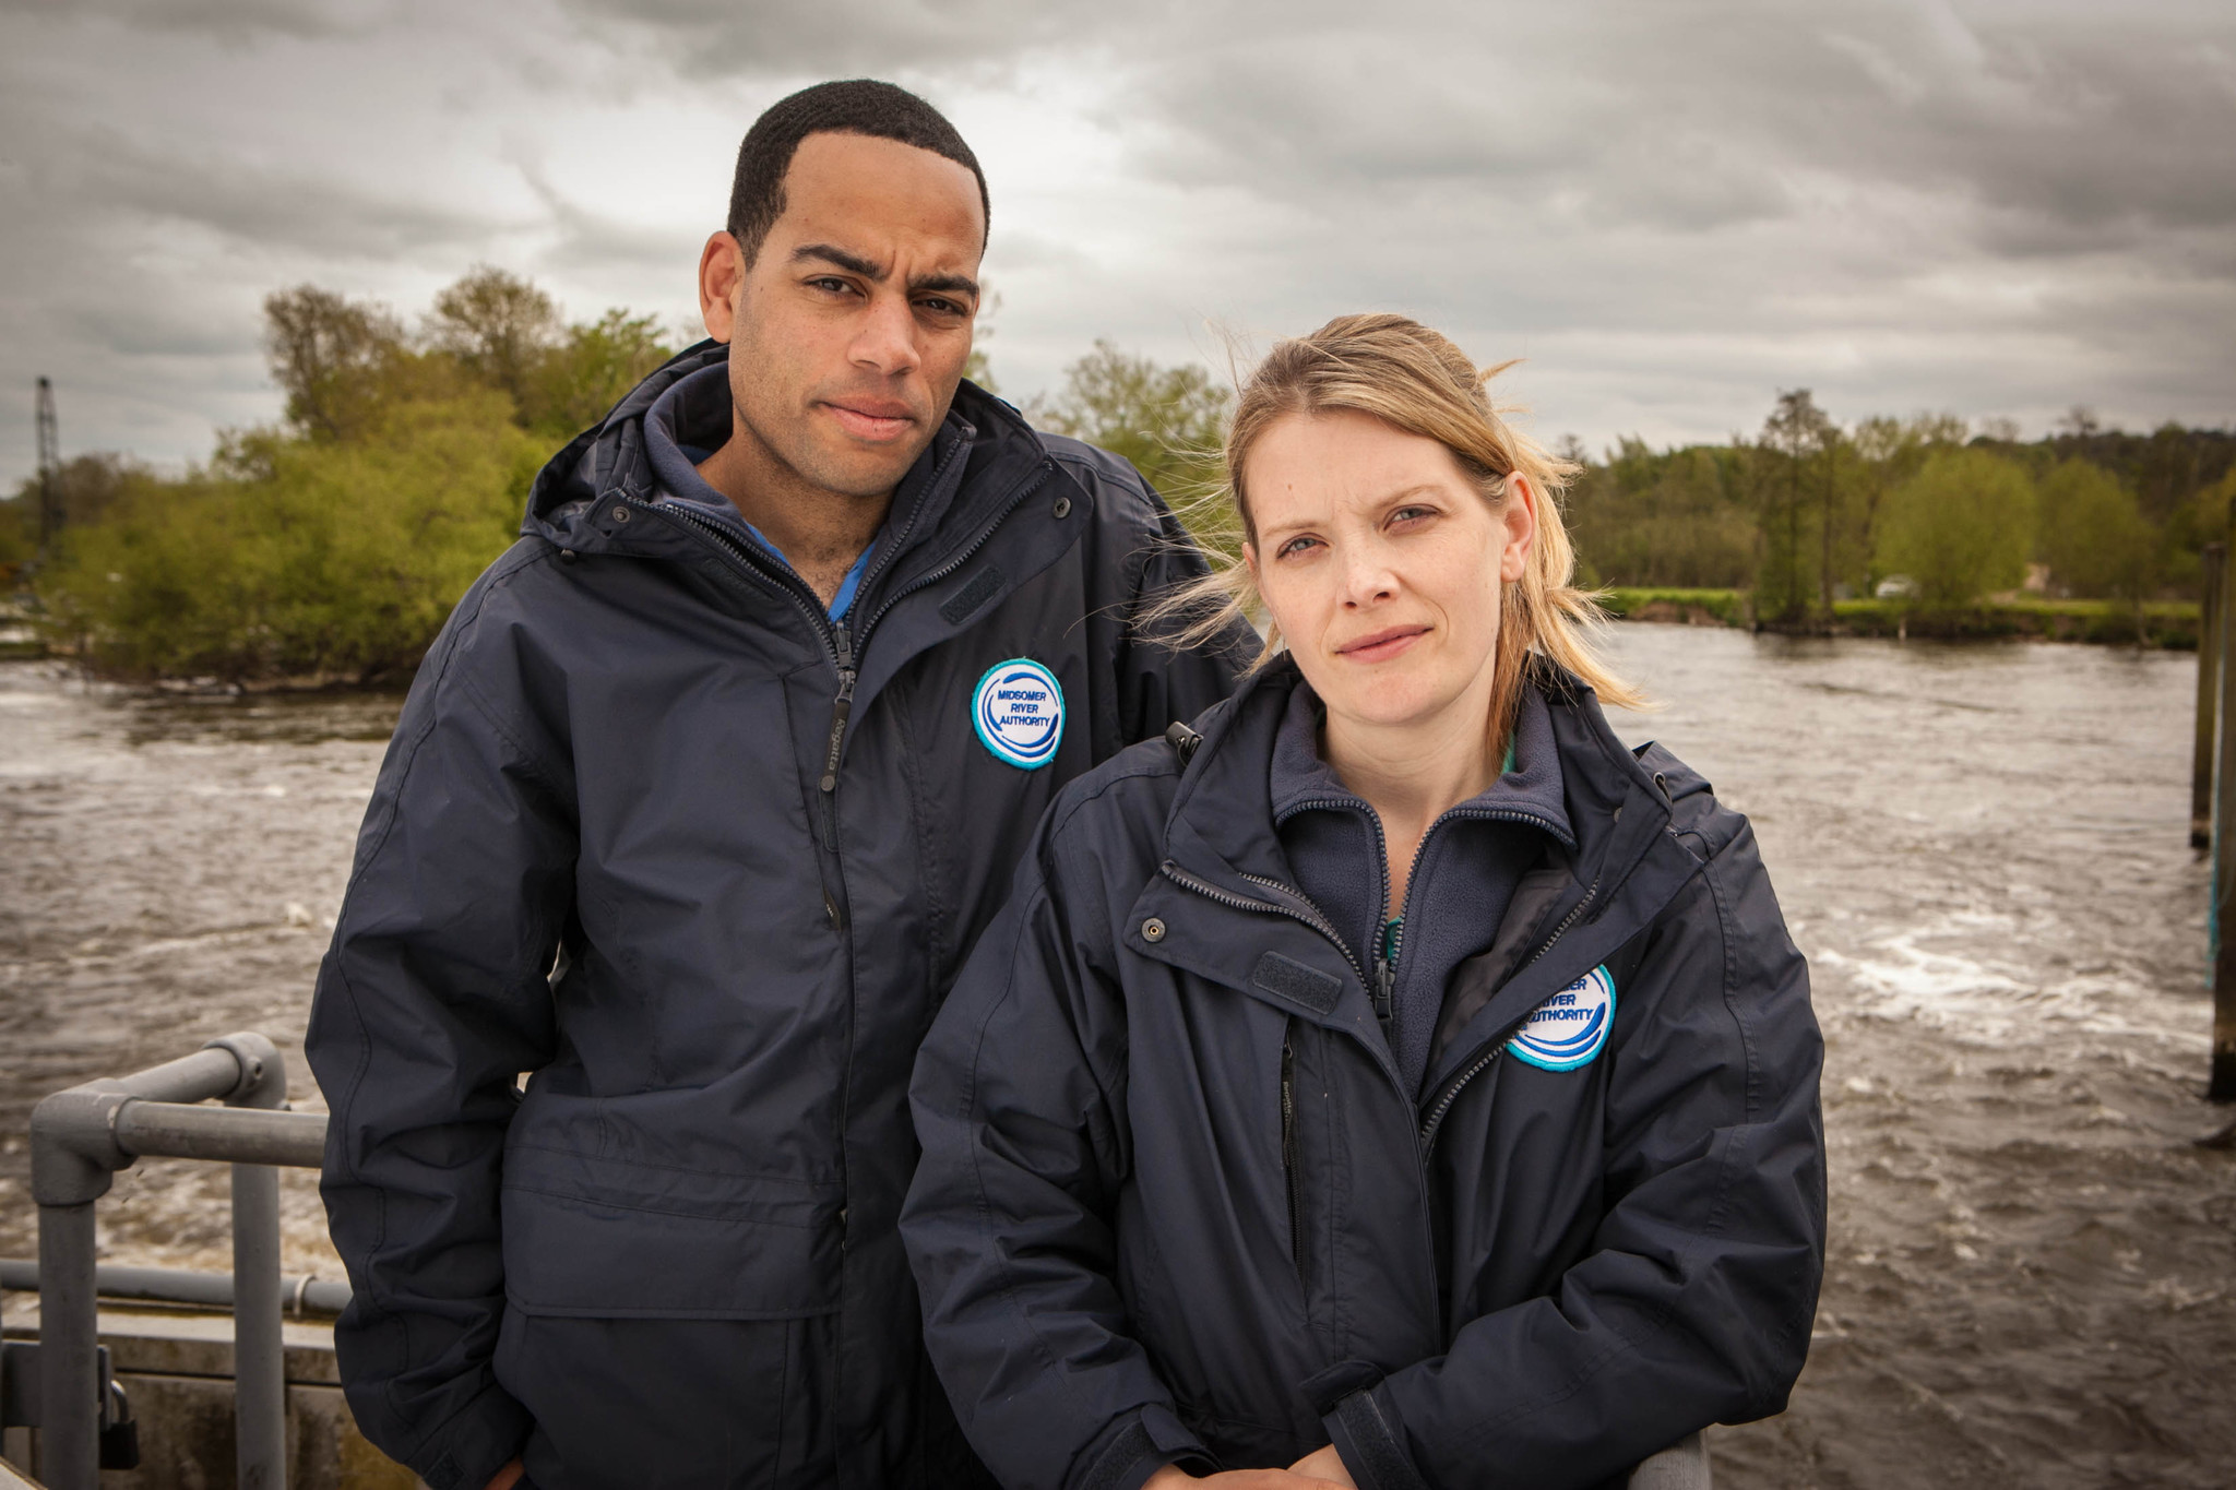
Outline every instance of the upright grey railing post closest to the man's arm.
<path id="1" fill-rule="evenodd" d="M 210 1041 L 241 1063 L 228 1108 L 284 1108 L 286 1063 L 262 1034 Z M 280 1331 L 280 1171 L 233 1166 L 233 1414 L 239 1490 L 286 1490 L 286 1340 Z"/>

